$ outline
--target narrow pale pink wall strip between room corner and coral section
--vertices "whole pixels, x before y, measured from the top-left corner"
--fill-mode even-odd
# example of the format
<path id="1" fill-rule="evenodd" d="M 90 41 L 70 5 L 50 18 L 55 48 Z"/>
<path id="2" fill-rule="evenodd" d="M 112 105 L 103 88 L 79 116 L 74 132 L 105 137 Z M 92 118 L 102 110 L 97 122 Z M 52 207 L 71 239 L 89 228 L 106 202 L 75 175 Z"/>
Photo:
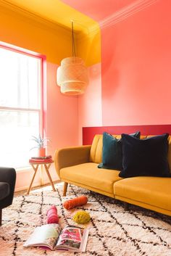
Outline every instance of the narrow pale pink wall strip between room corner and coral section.
<path id="1" fill-rule="evenodd" d="M 101 63 L 88 68 L 89 84 L 86 93 L 78 96 L 79 144 L 82 127 L 102 125 L 101 120 Z"/>

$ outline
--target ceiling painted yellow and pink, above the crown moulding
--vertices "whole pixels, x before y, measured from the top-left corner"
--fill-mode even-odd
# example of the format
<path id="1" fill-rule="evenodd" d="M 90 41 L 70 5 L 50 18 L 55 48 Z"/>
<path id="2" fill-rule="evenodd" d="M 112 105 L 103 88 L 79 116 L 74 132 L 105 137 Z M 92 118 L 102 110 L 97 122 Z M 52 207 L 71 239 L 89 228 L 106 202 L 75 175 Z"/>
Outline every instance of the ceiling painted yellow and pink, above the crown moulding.
<path id="1" fill-rule="evenodd" d="M 75 32 L 87 33 L 114 12 L 135 2 L 135 0 L 0 0 L 11 7 L 21 9 L 71 28 L 71 20 L 75 21 Z"/>

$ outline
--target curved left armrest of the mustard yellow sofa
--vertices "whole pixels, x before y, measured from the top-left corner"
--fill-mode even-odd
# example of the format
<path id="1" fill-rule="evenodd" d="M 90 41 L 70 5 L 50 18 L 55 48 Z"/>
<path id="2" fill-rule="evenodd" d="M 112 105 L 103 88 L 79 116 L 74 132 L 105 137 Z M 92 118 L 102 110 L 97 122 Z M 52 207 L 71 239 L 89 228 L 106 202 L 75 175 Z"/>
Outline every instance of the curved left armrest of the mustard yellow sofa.
<path id="1" fill-rule="evenodd" d="M 60 169 L 72 165 L 80 165 L 84 162 L 90 162 L 91 145 L 72 146 L 57 149 L 54 154 L 54 164 L 57 174 L 60 178 Z"/>

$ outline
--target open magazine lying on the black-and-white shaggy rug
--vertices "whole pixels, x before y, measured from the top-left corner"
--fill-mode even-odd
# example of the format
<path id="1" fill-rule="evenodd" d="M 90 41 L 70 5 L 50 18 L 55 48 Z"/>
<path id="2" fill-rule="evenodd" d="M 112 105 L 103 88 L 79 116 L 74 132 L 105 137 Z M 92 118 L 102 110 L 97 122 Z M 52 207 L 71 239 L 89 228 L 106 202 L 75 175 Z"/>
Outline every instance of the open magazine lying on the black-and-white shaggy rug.
<path id="1" fill-rule="evenodd" d="M 77 226 L 58 224 L 38 226 L 30 238 L 25 241 L 24 247 L 48 247 L 51 250 L 85 252 L 88 239 L 88 229 Z"/>

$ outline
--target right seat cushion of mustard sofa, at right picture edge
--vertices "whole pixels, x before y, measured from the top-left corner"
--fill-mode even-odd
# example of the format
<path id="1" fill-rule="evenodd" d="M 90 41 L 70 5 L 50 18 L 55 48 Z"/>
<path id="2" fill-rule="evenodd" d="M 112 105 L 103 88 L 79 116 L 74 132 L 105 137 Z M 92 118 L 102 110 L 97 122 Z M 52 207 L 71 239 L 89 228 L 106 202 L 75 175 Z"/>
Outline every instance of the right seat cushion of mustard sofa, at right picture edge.
<path id="1" fill-rule="evenodd" d="M 171 210 L 170 187 L 171 178 L 133 177 L 114 183 L 114 194 L 118 199 L 132 199 Z"/>

